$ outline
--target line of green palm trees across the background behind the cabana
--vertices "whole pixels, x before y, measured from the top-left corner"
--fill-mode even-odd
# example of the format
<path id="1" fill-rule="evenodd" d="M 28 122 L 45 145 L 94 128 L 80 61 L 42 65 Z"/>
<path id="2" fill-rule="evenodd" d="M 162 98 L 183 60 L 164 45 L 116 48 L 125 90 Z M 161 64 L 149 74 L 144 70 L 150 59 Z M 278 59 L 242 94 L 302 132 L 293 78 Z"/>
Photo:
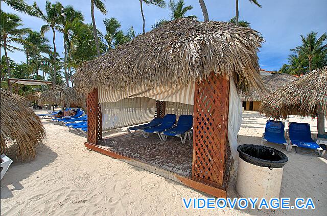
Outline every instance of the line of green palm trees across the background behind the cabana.
<path id="1" fill-rule="evenodd" d="M 75 10 L 73 6 L 64 6 L 60 2 L 52 4 L 46 1 L 45 7 L 40 8 L 36 2 L 28 5 L 25 0 L 1 0 L 2 3 L 14 10 L 38 17 L 44 21 L 39 31 L 32 31 L 30 28 L 21 28 L 23 25 L 20 17 L 13 13 L 6 13 L 1 10 L 1 47 L 4 48 L 5 55 L 1 58 L 1 80 L 7 78 L 28 78 L 51 80 L 53 85 L 67 85 L 69 81 L 73 84 L 73 74 L 75 70 L 85 61 L 89 61 L 104 55 L 137 36 L 133 26 L 125 32 L 121 29 L 121 23 L 115 17 L 105 18 L 103 23 L 106 28 L 105 34 L 97 29 L 95 21 L 95 11 L 103 14 L 107 13 L 105 0 L 89 0 L 91 23 L 85 23 L 83 14 Z M 159 8 L 166 8 L 165 0 L 134 0 L 139 1 L 139 10 L 143 21 L 143 33 L 145 30 L 145 13 L 143 8 L 147 5 L 154 5 Z M 249 0 L 250 3 L 261 8 L 256 0 Z M 208 12 L 204 0 L 199 0 L 204 21 L 209 20 Z M 169 0 L 171 20 L 182 17 L 193 17 L 188 15 L 193 9 L 192 5 L 185 5 L 183 0 Z M 236 0 L 236 16 L 229 22 L 243 27 L 249 27 L 250 23 L 239 20 L 239 0 Z M 161 19 L 152 25 L 157 28 L 162 23 L 169 20 Z M 44 33 L 51 32 L 52 38 L 44 37 Z M 59 36 L 56 35 L 59 32 Z M 59 54 L 56 49 L 56 37 L 63 37 L 63 53 Z M 316 33 L 309 37 L 302 37 L 303 45 L 316 41 L 317 47 L 309 48 L 305 46 L 296 47 L 294 53 L 289 57 L 289 63 L 283 65 L 278 72 L 299 73 L 298 71 L 311 71 L 321 65 L 326 64 L 325 55 L 325 34 L 316 39 Z M 311 40 L 311 41 L 309 41 Z M 21 44 L 22 48 L 14 46 Z M 320 44 L 320 45 L 319 45 Z M 308 45 L 309 46 L 309 45 Z M 302 48 L 300 48 L 302 47 Z M 310 47 L 312 47 L 310 45 Z M 24 51 L 26 62 L 15 63 L 8 57 L 8 52 Z M 311 53 L 309 53 L 311 52 Z M 317 53 L 320 53 L 317 55 Z M 303 54 L 306 53 L 306 54 Z M 309 54 L 308 54 L 309 53 Z M 38 75 L 42 71 L 43 75 Z M 2 88 L 8 88 L 7 82 L 1 82 Z M 74 86 L 73 86 L 74 87 Z"/>

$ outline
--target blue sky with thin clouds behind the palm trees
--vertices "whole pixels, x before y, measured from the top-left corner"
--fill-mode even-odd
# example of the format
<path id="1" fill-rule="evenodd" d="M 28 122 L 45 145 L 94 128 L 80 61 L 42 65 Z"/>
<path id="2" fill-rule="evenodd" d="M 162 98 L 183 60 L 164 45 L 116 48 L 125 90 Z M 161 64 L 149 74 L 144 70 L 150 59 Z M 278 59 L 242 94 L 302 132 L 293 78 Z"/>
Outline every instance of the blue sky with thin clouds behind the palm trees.
<path id="1" fill-rule="evenodd" d="M 104 0 L 103 0 L 104 1 Z M 177 1 L 177 0 L 175 0 Z M 34 1 L 26 1 L 30 5 Z M 37 4 L 44 10 L 45 1 L 37 0 Z M 56 2 L 56 1 L 50 1 Z M 168 0 L 166 1 L 168 5 Z M 203 20 L 202 11 L 198 0 L 184 0 L 186 5 L 194 8 L 188 15 L 196 15 Z M 62 0 L 61 3 L 73 5 L 76 10 L 84 14 L 85 22 L 91 22 L 90 0 Z M 133 25 L 136 33 L 142 33 L 142 17 L 139 10 L 138 0 L 106 0 L 104 1 L 108 13 L 101 14 L 95 9 L 97 28 L 105 33 L 104 18 L 115 17 L 122 24 L 122 30 L 127 31 Z M 262 8 L 251 4 L 248 0 L 239 0 L 240 19 L 250 22 L 251 28 L 261 32 L 265 43 L 260 48 L 259 63 L 265 70 L 278 70 L 287 62 L 290 49 L 300 45 L 300 35 L 306 35 L 311 31 L 318 32 L 318 36 L 327 31 L 327 0 L 259 0 Z M 235 16 L 234 0 L 205 0 L 209 19 L 227 21 Z M 170 11 L 155 6 L 144 5 L 146 19 L 146 31 L 151 30 L 151 25 L 160 19 L 169 19 Z M 1 9 L 5 12 L 18 14 L 25 27 L 39 31 L 44 22 L 36 17 L 18 13 L 7 7 L 1 1 Z M 52 40 L 52 33 L 46 33 L 46 37 Z M 60 56 L 63 52 L 62 34 L 56 34 L 56 46 Z M 1 49 L 1 55 L 4 55 Z M 9 52 L 8 56 L 16 62 L 25 62 L 23 52 Z"/>

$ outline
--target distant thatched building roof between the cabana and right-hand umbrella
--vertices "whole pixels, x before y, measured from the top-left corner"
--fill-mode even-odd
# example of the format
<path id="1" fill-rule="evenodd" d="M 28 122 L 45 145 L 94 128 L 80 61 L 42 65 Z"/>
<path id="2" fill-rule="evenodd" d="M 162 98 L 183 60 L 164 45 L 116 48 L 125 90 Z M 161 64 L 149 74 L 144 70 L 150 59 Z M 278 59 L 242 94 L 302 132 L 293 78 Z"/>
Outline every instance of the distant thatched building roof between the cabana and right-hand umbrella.
<path id="1" fill-rule="evenodd" d="M 295 79 L 297 79 L 297 77 L 292 76 L 290 74 L 278 73 L 265 76 L 262 78 L 262 81 L 265 84 L 266 88 L 269 90 L 269 92 L 273 93 L 278 88 L 281 88 L 282 86 L 294 81 Z M 249 94 L 241 92 L 240 97 L 242 101 L 263 101 L 265 99 L 265 97 L 260 95 L 258 91 L 253 91 Z"/>

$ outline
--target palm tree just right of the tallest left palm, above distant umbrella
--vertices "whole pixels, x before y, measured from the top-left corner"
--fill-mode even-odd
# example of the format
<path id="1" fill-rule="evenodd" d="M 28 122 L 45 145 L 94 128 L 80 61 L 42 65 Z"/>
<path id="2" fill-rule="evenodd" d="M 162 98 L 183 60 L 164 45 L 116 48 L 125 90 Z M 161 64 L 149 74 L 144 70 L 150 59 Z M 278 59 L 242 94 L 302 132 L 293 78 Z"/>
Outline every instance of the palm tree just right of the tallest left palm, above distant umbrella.
<path id="1" fill-rule="evenodd" d="M 69 30 L 72 28 L 72 23 L 74 20 L 83 21 L 83 14 L 79 11 L 75 11 L 73 6 L 66 6 L 62 8 L 60 13 L 60 24 L 63 33 L 63 46 L 64 46 L 64 74 L 66 79 L 66 85 L 69 86 L 69 75 L 67 72 L 67 49 L 71 47 L 71 42 L 69 41 Z M 68 50 L 69 51 L 69 50 Z"/>

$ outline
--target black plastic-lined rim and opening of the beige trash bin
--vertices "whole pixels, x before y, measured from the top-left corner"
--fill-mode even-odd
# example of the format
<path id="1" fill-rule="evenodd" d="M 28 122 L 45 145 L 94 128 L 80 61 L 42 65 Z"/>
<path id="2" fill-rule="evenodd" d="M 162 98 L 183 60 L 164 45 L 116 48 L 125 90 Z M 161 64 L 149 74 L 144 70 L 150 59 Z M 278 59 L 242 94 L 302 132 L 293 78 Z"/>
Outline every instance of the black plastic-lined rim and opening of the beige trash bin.
<path id="1" fill-rule="evenodd" d="M 237 151 L 244 161 L 260 167 L 282 168 L 288 161 L 283 152 L 268 146 L 243 144 Z"/>

